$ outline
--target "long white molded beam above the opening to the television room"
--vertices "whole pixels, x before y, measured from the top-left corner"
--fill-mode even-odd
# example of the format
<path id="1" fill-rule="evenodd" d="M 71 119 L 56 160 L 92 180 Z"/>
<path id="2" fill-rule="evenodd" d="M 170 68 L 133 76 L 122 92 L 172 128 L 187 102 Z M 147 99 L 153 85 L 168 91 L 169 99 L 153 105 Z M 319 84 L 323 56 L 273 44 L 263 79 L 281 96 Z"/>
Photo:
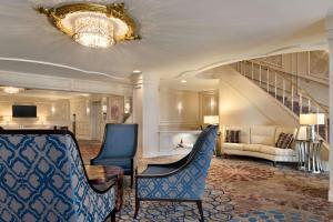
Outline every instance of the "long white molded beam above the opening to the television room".
<path id="1" fill-rule="evenodd" d="M 132 95 L 131 83 L 102 82 L 0 70 L 0 84 L 33 89 Z"/>

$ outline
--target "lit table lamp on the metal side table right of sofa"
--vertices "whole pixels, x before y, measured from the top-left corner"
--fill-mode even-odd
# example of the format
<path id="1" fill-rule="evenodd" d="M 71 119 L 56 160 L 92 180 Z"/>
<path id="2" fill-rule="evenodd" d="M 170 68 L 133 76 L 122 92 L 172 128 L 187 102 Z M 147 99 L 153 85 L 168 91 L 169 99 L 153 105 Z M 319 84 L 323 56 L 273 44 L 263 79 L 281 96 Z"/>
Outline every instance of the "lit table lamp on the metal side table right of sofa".
<path id="1" fill-rule="evenodd" d="M 325 124 L 324 113 L 306 113 L 300 114 L 300 124 L 306 125 L 306 139 L 315 140 L 314 125 Z"/>

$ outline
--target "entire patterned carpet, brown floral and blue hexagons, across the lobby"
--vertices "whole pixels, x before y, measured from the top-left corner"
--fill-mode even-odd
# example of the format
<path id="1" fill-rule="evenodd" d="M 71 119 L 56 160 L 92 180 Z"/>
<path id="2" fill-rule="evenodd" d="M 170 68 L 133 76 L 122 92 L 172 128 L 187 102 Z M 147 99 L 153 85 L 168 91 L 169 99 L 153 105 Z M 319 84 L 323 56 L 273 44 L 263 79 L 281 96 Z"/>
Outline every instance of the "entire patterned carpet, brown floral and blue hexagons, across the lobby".
<path id="1" fill-rule="evenodd" d="M 97 155 L 99 143 L 80 142 L 85 163 Z M 147 163 L 172 162 L 180 157 L 143 159 Z M 203 198 L 206 221 L 333 221 L 333 203 L 327 202 L 329 175 L 309 174 L 293 165 L 264 160 L 214 158 Z M 133 221 L 134 191 L 125 181 L 124 206 L 119 221 Z M 135 221 L 198 221 L 193 203 L 143 202 Z"/>

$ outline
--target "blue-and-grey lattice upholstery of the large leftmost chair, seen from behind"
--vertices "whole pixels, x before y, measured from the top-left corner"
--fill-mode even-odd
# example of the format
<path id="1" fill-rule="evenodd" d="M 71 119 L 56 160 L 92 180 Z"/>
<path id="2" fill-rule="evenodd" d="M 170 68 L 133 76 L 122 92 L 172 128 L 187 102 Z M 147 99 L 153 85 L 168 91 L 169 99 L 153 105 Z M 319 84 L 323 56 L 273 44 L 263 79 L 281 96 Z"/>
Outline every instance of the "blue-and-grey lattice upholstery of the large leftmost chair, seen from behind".
<path id="1" fill-rule="evenodd" d="M 0 135 L 0 221 L 104 221 L 114 200 L 88 184 L 70 135 Z"/>

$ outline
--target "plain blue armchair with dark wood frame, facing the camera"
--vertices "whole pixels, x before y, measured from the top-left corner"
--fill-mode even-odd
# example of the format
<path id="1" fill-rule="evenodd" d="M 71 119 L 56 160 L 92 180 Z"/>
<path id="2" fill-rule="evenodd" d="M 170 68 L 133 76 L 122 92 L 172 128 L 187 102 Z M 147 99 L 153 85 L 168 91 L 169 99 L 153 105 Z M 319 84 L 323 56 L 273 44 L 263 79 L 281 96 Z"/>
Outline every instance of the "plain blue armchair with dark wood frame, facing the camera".
<path id="1" fill-rule="evenodd" d="M 97 158 L 91 160 L 91 164 L 121 167 L 125 175 L 131 175 L 132 188 L 137 172 L 137 147 L 138 124 L 108 123 L 101 151 Z"/>

